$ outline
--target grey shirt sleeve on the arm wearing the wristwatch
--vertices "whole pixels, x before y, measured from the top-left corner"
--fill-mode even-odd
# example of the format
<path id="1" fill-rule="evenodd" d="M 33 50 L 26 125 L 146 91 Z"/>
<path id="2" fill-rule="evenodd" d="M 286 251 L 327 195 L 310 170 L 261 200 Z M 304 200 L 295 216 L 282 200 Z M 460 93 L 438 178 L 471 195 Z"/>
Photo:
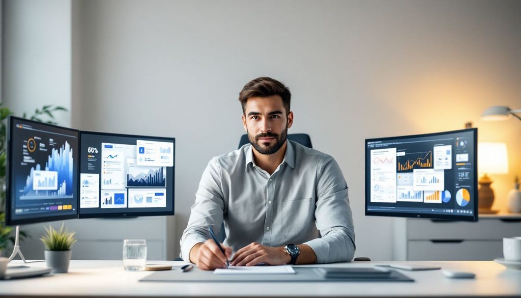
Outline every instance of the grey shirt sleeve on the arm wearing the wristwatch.
<path id="1" fill-rule="evenodd" d="M 316 226 L 320 238 L 307 244 L 317 263 L 350 261 L 355 252 L 353 216 L 348 186 L 338 163 L 326 156 L 317 168 Z"/>

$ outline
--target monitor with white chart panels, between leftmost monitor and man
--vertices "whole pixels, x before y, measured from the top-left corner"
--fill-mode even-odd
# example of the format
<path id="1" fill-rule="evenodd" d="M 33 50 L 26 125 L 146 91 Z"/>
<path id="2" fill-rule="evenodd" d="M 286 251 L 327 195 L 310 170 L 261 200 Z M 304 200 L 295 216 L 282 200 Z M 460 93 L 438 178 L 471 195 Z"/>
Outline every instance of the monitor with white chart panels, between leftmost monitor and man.
<path id="1" fill-rule="evenodd" d="M 80 218 L 173 215 L 174 138 L 80 132 Z"/>

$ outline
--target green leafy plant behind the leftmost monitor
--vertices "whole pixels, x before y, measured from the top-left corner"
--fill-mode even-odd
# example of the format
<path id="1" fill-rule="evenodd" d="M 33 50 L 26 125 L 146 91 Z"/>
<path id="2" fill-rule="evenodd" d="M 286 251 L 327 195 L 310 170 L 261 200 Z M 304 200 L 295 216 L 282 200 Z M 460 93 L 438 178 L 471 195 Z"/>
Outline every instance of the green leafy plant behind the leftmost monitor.
<path id="1" fill-rule="evenodd" d="M 2 105 L 0 103 L 0 105 Z M 34 113 L 30 116 L 30 120 L 45 122 L 48 124 L 56 124 L 54 121 L 54 112 L 57 111 L 67 111 L 63 106 L 53 106 L 53 105 L 44 105 L 40 109 L 34 110 Z M 9 115 L 12 115 L 13 112 L 9 110 L 9 108 L 0 108 L 0 255 L 1 252 L 8 248 L 9 242 L 15 243 L 15 236 L 13 235 L 13 228 L 6 227 L 5 225 L 5 213 L 4 203 L 5 203 L 5 174 L 6 174 L 6 133 L 7 133 L 7 123 L 6 119 Z M 23 118 L 28 118 L 27 113 L 23 113 Z M 48 118 L 48 120 L 44 121 L 44 118 Z M 30 235 L 26 232 L 20 231 L 20 240 L 25 238 L 30 238 Z"/>

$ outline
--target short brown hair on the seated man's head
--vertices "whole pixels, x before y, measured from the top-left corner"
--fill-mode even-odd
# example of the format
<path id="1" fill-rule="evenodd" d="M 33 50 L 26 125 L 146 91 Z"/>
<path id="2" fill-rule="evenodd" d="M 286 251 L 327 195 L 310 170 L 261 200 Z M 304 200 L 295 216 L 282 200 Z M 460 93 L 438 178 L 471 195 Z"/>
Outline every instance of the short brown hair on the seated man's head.
<path id="1" fill-rule="evenodd" d="M 261 77 L 249 81 L 239 93 L 239 101 L 242 104 L 242 112 L 246 113 L 246 102 L 251 97 L 269 97 L 278 95 L 282 98 L 282 104 L 286 114 L 290 112 L 291 92 L 290 89 L 276 79 Z"/>

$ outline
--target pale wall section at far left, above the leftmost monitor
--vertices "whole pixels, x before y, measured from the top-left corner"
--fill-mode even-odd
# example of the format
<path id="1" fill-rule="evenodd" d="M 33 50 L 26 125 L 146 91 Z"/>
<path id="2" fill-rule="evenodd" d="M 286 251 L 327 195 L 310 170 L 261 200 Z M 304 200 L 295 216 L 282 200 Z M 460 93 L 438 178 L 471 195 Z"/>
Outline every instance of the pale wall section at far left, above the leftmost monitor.
<path id="1" fill-rule="evenodd" d="M 70 10 L 70 0 L 4 1 L 2 99 L 16 115 L 45 104 L 70 110 Z M 56 113 L 61 125 L 70 118 Z"/>

